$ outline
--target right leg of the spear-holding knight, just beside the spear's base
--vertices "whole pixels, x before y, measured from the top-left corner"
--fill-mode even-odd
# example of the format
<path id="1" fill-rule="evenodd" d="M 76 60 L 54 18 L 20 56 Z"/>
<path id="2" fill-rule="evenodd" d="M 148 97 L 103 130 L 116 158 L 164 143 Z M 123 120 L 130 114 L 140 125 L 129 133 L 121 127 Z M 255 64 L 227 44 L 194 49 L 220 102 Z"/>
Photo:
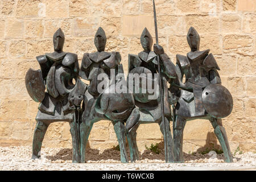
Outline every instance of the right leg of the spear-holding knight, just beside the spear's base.
<path id="1" fill-rule="evenodd" d="M 161 120 L 161 122 L 159 123 L 160 130 L 164 137 L 164 154 L 165 154 L 166 162 L 173 163 L 174 162 L 174 141 L 172 140 L 170 122 L 166 117 L 164 117 L 164 122 L 165 123 L 163 123 Z M 164 125 L 166 128 L 164 128 Z"/>

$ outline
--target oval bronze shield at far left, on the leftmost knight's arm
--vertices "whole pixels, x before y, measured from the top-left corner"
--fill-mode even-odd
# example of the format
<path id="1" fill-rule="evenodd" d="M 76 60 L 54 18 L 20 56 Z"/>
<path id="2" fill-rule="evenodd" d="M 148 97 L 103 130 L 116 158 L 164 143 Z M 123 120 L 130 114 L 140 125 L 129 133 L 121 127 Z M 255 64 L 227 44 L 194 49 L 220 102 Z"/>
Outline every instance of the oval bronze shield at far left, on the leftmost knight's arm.
<path id="1" fill-rule="evenodd" d="M 42 102 L 46 96 L 46 86 L 40 69 L 28 69 L 25 77 L 27 92 L 36 102 Z"/>

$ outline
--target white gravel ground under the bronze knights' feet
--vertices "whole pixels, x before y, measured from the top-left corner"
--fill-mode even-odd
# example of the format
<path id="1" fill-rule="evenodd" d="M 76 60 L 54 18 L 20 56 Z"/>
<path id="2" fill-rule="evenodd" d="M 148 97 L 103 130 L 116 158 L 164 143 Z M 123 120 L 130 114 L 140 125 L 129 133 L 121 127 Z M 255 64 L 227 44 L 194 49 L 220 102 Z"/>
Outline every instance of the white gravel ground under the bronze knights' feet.
<path id="1" fill-rule="evenodd" d="M 31 159 L 31 146 L 0 147 L 0 170 L 256 170 L 255 152 L 236 154 L 234 163 L 224 163 L 223 155 L 184 154 L 185 163 L 164 163 L 164 151 L 141 152 L 136 163 L 119 162 L 119 151 L 88 149 L 86 164 L 72 164 L 72 149 L 42 148 L 42 159 Z M 214 153 L 214 152 L 213 152 Z"/>

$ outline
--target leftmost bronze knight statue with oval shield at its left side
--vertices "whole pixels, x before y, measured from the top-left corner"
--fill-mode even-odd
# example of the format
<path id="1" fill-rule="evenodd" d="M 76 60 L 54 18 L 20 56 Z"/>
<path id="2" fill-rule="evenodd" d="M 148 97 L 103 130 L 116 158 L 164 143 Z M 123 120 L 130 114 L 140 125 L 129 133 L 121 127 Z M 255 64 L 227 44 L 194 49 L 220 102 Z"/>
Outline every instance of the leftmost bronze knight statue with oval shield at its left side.
<path id="1" fill-rule="evenodd" d="M 64 33 L 59 28 L 53 35 L 54 52 L 36 57 L 41 69 L 35 71 L 30 68 L 26 73 L 28 94 L 34 101 L 40 102 L 32 143 L 32 159 L 40 158 L 40 150 L 48 126 L 52 122 L 67 121 L 71 126 L 73 162 L 78 163 L 78 136 L 75 128 L 77 121 L 73 104 L 80 107 L 86 85 L 79 79 L 77 55 L 63 52 L 64 42 Z M 79 86 L 79 89 L 76 86 Z M 69 102 L 71 92 L 79 93 L 79 97 L 72 97 L 72 103 Z"/>

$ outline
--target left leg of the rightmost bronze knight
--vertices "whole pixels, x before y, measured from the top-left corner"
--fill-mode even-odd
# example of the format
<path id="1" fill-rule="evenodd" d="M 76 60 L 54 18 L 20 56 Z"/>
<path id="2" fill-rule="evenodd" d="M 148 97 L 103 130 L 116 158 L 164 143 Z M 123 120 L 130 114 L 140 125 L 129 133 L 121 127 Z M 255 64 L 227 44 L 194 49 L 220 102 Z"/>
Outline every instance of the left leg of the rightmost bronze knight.
<path id="1" fill-rule="evenodd" d="M 186 124 L 186 120 L 176 115 L 174 120 L 174 155 L 175 162 L 184 162 L 183 157 L 183 130 Z"/>

